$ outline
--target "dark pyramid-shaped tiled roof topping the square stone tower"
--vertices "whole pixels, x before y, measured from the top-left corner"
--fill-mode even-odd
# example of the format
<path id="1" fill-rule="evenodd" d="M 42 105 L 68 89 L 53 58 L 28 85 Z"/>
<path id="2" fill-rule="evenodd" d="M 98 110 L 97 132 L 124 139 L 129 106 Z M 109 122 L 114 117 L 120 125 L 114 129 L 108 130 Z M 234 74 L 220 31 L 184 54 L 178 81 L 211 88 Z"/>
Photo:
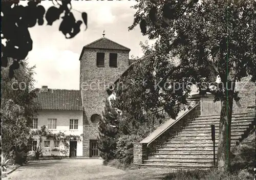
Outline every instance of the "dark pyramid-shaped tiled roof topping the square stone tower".
<path id="1" fill-rule="evenodd" d="M 102 37 L 95 40 L 83 47 L 79 60 L 82 57 L 84 50 L 86 49 L 105 49 L 105 50 L 122 50 L 131 51 L 131 49 L 122 46 L 121 44 L 114 42 L 108 38 Z"/>

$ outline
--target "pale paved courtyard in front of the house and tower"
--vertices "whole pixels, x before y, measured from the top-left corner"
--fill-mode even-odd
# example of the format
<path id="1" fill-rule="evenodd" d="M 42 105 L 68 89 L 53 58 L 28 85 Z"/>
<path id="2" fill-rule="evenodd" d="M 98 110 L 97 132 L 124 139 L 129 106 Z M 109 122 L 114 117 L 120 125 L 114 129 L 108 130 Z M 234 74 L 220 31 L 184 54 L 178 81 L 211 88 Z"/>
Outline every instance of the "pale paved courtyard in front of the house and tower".
<path id="1" fill-rule="evenodd" d="M 139 169 L 123 171 L 103 166 L 102 160 L 56 160 L 30 162 L 4 177 L 3 180 L 132 180 L 162 179 L 166 171 Z"/>

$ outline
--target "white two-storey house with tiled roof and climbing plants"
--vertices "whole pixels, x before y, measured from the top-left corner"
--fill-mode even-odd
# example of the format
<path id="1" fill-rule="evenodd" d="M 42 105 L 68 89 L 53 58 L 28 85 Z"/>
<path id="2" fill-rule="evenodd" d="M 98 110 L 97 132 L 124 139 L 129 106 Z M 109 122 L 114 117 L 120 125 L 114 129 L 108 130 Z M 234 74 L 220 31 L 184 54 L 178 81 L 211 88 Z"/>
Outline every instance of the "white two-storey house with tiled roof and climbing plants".
<path id="1" fill-rule="evenodd" d="M 31 150 L 43 148 L 44 156 L 82 156 L 83 107 L 80 91 L 42 86 L 36 89 L 36 93 L 39 109 L 30 128 L 34 135 Z"/>

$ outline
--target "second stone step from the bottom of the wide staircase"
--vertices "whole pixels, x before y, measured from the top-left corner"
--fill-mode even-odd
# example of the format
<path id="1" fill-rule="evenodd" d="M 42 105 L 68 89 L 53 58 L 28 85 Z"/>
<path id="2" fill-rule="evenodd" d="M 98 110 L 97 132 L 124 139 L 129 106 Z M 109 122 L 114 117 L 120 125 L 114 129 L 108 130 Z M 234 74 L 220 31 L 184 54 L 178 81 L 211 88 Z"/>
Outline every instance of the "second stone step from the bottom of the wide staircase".
<path id="1" fill-rule="evenodd" d="M 214 162 L 213 158 L 212 159 L 205 159 L 205 160 L 193 160 L 193 159 L 149 159 L 149 160 L 143 160 L 143 163 L 145 164 L 152 164 L 152 163 L 172 163 L 172 164 L 212 164 Z"/>

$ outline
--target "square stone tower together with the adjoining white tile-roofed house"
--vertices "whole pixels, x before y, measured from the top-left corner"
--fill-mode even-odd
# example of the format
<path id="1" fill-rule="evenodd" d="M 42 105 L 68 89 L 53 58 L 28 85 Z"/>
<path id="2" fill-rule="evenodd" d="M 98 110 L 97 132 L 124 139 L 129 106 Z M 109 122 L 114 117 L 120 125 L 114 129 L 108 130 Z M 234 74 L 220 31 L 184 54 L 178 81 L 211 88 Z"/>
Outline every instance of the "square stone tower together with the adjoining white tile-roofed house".
<path id="1" fill-rule="evenodd" d="M 64 148 L 63 143 L 53 140 L 39 140 L 32 143 L 32 149 L 40 145 L 47 155 L 70 157 L 98 157 L 98 122 L 105 106 L 110 87 L 133 62 L 129 59 L 131 50 L 103 37 L 83 47 L 80 61 L 80 90 L 38 89 L 36 101 L 39 109 L 33 119 L 31 130 L 47 126 L 53 133 L 59 131 L 69 135 L 80 135 L 79 141 L 70 141 L 67 153 L 56 152 Z"/>

